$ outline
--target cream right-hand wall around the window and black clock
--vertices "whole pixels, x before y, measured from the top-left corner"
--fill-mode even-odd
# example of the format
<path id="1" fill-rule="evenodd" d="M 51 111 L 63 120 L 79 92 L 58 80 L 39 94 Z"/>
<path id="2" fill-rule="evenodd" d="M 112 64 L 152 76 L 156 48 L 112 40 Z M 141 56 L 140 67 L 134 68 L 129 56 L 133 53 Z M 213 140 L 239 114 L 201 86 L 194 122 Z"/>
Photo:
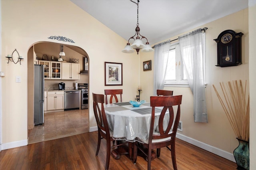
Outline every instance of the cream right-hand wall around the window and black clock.
<path id="1" fill-rule="evenodd" d="M 173 90 L 174 95 L 183 95 L 180 117 L 180 121 L 182 121 L 183 124 L 183 132 L 178 131 L 178 133 L 226 152 L 233 153 L 234 149 L 238 146 L 238 141 L 236 140 L 236 136 L 230 127 L 212 85 L 214 84 L 220 89 L 219 82 L 222 81 L 249 80 L 248 9 L 241 10 L 201 26 L 201 28 L 204 27 L 208 28 L 208 30 L 206 30 L 206 81 L 208 84 L 206 87 L 206 100 L 208 123 L 194 123 L 193 96 L 189 87 L 165 87 L 165 89 Z M 196 29 L 197 28 L 194 30 Z M 216 67 L 217 44 L 214 39 L 216 39 L 222 31 L 229 29 L 244 33 L 242 36 L 243 64 L 234 67 Z M 171 37 L 170 40 L 174 40 L 182 34 Z M 143 71 L 142 62 L 150 59 L 152 60 L 152 71 Z M 141 99 L 149 101 L 150 96 L 153 95 L 154 54 L 141 53 L 140 65 Z"/>

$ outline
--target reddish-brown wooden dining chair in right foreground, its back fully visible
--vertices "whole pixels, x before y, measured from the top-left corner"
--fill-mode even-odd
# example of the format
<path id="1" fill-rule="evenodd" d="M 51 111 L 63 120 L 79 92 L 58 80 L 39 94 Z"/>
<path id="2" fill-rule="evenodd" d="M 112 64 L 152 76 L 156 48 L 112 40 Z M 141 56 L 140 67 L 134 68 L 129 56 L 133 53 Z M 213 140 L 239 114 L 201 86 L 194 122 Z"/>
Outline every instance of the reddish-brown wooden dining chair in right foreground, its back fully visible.
<path id="1" fill-rule="evenodd" d="M 150 122 L 150 132 L 148 136 L 148 143 L 138 144 L 136 142 L 134 144 L 134 154 L 133 154 L 133 162 L 136 163 L 137 160 L 137 150 L 141 150 L 147 156 L 148 159 L 148 170 L 151 168 L 151 160 L 152 160 L 152 149 L 157 149 L 156 154 L 157 157 L 160 156 L 160 148 L 166 147 L 171 151 L 172 156 L 172 165 L 174 170 L 177 170 L 176 164 L 176 156 L 175 156 L 175 139 L 176 139 L 176 132 L 178 128 L 178 123 L 180 121 L 180 104 L 181 104 L 182 95 L 179 96 L 151 96 L 150 97 L 150 106 L 152 107 L 151 113 L 151 122 Z M 174 115 L 173 106 L 178 105 L 175 107 L 177 110 L 176 116 Z M 154 121 L 155 121 L 155 107 L 163 107 L 159 121 L 156 122 L 158 125 L 159 132 L 154 132 Z M 169 111 L 169 113 L 166 111 Z M 164 116 L 169 114 L 170 120 L 167 125 L 167 128 L 164 129 Z M 175 117 L 175 121 L 174 121 Z M 173 126 L 173 128 L 172 128 Z M 144 147 L 142 147 L 144 146 Z M 170 146 L 170 148 L 168 147 Z M 147 151 L 145 152 L 143 148 L 146 148 Z"/>

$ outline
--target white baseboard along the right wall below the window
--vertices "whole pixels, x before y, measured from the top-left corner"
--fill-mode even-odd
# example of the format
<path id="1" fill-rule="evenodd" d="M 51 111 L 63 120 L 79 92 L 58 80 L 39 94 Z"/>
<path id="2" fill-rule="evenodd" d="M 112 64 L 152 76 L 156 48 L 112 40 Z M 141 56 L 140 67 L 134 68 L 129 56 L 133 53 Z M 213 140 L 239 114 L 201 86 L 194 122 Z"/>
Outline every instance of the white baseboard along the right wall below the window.
<path id="1" fill-rule="evenodd" d="M 200 142 L 198 140 L 195 140 L 193 138 L 190 138 L 188 136 L 184 136 L 183 134 L 176 133 L 176 138 L 179 138 L 180 140 L 184 140 L 185 142 L 188 142 L 190 144 L 193 144 L 199 148 L 202 148 L 204 150 L 207 150 L 213 154 L 216 154 L 218 156 L 221 156 L 222 158 L 226 158 L 232 162 L 236 162 L 234 155 L 232 153 L 229 153 L 225 150 L 221 150 L 219 148 L 216 148 L 214 146 L 210 146 L 209 144 Z"/>

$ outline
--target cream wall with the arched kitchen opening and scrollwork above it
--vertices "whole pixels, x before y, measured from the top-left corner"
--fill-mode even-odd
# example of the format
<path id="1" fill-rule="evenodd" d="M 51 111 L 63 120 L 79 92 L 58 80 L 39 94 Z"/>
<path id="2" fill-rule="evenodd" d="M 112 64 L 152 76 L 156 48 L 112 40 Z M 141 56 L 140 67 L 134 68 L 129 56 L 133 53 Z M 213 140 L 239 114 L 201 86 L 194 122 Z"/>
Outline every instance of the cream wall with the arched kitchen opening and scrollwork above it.
<path id="1" fill-rule="evenodd" d="M 22 9 L 22 10 L 20 10 Z M 11 11 L 11 12 L 10 12 Z M 36 42 L 56 42 L 67 45 L 74 43 L 48 39 L 50 36 L 70 38 L 75 45 L 84 49 L 90 58 L 90 99 L 92 92 L 104 93 L 104 89 L 123 89 L 123 100 L 136 95 L 138 87 L 137 54 L 124 54 L 126 40 L 92 18 L 69 0 L 20 1 L 2 0 L 2 55 L 11 54 L 16 48 L 24 56 L 22 64 L 7 64 L 1 57 L 2 71 L 2 147 L 10 148 L 13 143 L 27 144 L 28 114 L 28 49 Z M 62 18 L 62 19 L 61 19 Z M 65 26 L 62 26 L 63 23 Z M 111 43 L 110 43 L 111 42 Z M 116 43 L 113 43 L 116 42 Z M 104 86 L 104 61 L 123 63 L 123 86 Z M 15 83 L 15 77 L 21 83 Z M 96 122 L 89 101 L 90 127 Z"/>

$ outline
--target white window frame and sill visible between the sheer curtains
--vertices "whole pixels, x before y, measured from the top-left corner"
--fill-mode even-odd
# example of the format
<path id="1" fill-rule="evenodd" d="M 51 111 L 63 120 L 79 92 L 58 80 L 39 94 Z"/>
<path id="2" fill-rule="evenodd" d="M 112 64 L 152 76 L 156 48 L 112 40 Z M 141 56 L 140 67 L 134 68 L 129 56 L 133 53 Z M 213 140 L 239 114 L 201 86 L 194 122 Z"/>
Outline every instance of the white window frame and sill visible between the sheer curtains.
<path id="1" fill-rule="evenodd" d="M 188 80 L 182 79 L 184 74 L 184 65 L 182 62 L 182 57 L 180 53 L 180 48 L 178 47 L 179 42 L 170 45 L 170 50 L 175 50 L 175 60 L 176 60 L 176 79 L 175 80 L 164 80 L 164 87 L 189 87 Z M 168 67 L 168 66 L 167 66 Z"/>

